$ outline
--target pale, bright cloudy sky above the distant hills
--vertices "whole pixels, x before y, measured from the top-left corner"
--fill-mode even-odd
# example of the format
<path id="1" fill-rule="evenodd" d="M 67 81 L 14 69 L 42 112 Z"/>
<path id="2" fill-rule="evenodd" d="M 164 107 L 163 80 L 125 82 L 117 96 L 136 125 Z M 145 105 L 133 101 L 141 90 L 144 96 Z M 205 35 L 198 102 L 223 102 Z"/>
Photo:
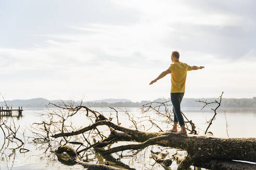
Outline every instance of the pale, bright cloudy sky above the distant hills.
<path id="1" fill-rule="evenodd" d="M 256 96 L 254 1 L 0 0 L 0 92 L 134 102 L 170 97 L 171 53 L 186 98 Z M 1 99 L 2 100 L 2 99 Z"/>

